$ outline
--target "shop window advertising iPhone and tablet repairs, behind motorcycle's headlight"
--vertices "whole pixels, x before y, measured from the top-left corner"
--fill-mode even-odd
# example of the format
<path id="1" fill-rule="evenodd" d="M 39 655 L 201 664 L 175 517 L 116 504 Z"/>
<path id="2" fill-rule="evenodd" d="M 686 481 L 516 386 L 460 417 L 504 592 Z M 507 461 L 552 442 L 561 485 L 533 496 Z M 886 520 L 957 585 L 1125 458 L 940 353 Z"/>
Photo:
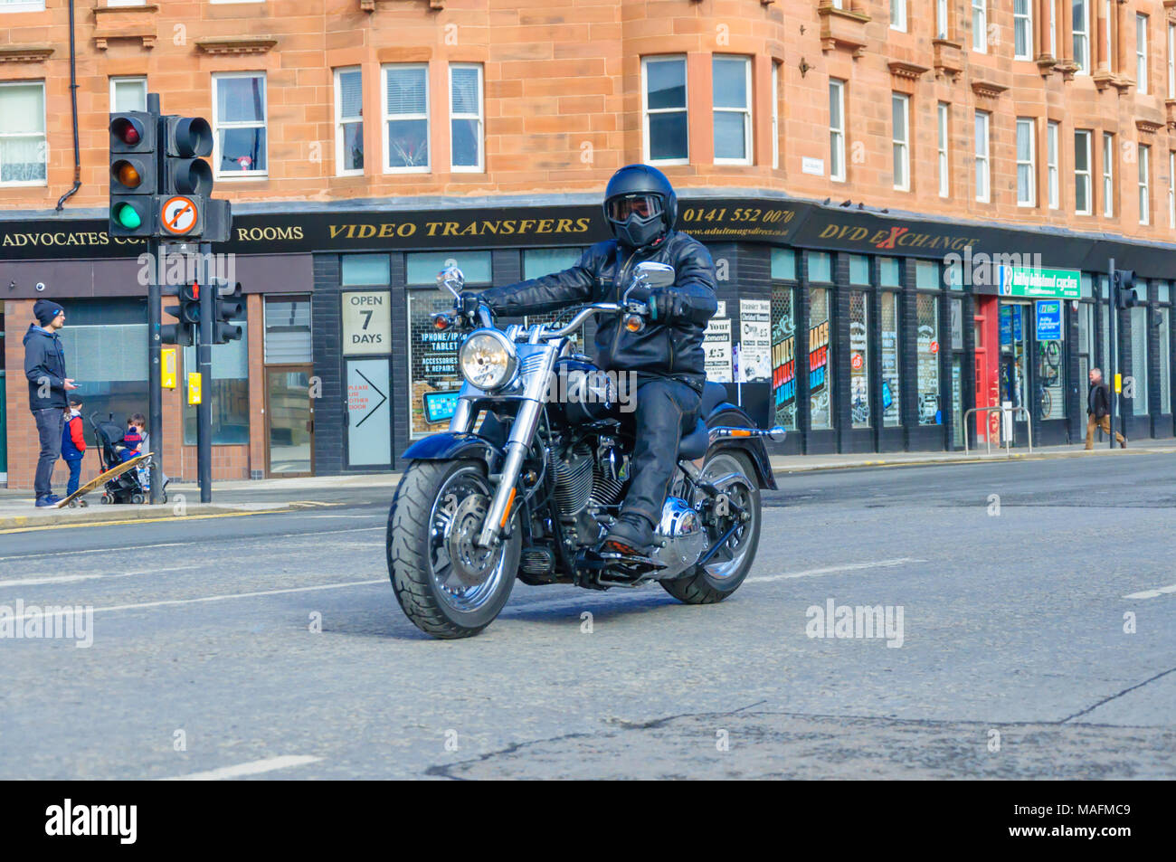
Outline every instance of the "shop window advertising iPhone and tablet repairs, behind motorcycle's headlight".
<path id="1" fill-rule="evenodd" d="M 445 395 L 461 388 L 457 348 L 461 333 L 437 332 L 429 318 L 453 308 L 453 296 L 437 289 L 437 273 L 456 266 L 466 275 L 467 287 L 490 283 L 489 252 L 414 252 L 406 255 L 408 281 L 408 376 L 409 436 L 420 437 L 445 430 L 452 407 Z M 432 288 L 432 289 L 415 289 Z"/>

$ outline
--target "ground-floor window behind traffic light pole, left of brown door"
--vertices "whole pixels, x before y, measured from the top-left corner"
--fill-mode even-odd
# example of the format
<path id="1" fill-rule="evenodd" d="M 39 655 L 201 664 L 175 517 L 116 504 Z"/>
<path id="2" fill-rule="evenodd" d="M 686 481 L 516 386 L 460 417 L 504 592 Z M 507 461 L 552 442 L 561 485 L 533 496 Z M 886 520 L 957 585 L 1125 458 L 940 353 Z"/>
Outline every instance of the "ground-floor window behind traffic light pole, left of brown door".
<path id="1" fill-rule="evenodd" d="M 212 381 L 203 386 L 205 402 L 212 408 L 213 446 L 249 442 L 249 328 L 243 316 L 229 321 L 241 327 L 241 339 L 213 345 Z M 196 348 L 183 348 L 183 370 L 199 370 Z M 183 445 L 196 445 L 196 408 L 183 406 Z"/>

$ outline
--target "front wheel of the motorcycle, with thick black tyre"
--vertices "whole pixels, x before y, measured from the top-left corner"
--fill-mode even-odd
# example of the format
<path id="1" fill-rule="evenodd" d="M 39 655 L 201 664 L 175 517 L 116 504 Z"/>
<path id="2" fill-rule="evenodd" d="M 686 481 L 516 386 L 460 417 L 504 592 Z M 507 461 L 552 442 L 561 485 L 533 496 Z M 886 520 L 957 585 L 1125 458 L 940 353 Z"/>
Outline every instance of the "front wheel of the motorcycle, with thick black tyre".
<path id="1" fill-rule="evenodd" d="M 405 615 L 434 637 L 476 635 L 502 610 L 519 568 L 520 530 L 474 543 L 494 487 L 477 461 L 414 461 L 388 512 L 388 577 Z"/>

